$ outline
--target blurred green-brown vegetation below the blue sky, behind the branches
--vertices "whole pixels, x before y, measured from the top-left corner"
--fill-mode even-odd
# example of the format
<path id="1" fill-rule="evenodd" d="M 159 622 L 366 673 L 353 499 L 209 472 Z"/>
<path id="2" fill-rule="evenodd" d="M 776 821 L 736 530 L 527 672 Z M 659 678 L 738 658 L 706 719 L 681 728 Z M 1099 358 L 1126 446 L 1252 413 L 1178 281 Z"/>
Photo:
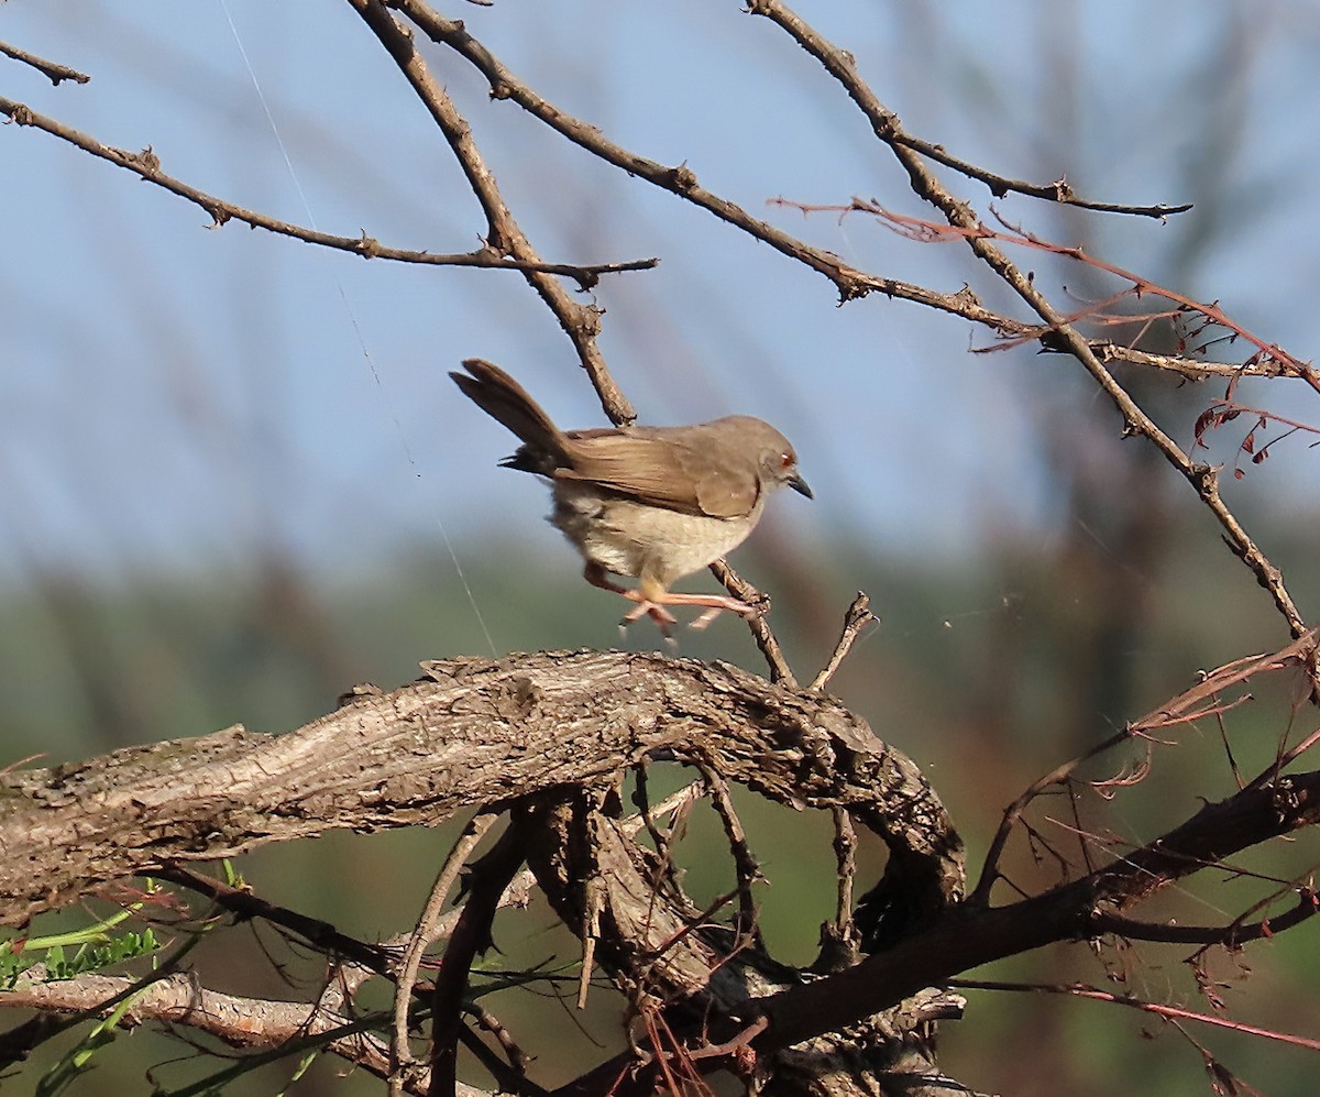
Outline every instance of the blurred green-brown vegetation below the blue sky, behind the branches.
<path id="1" fill-rule="evenodd" d="M 776 627 L 804 676 L 828 653 L 851 587 L 875 594 L 883 620 L 863 636 L 833 690 L 921 764 L 953 812 L 975 867 L 1003 807 L 1030 780 L 1107 735 L 1125 714 L 1139 715 L 1189 685 L 1196 668 L 1253 647 L 1263 649 L 1276 639 L 1263 599 L 1245 585 L 1236 595 L 1216 594 L 1213 606 L 1200 605 L 1199 582 L 1188 576 L 1222 570 L 1217 586 L 1232 591 L 1236 570 L 1228 553 L 1205 537 L 1197 516 L 1171 523 L 1164 533 L 1167 553 L 1140 570 L 1107 553 L 1097 558 L 1089 539 L 1031 561 L 1006 549 L 965 570 L 876 560 L 851 547 L 838 553 L 837 568 L 822 572 L 809 566 L 810 553 L 801 558 L 803 545 L 780 535 L 755 540 L 742 562 L 744 573 L 774 593 Z M 1276 543 L 1286 544 L 1295 531 L 1278 533 Z M 516 539 L 492 528 L 473 544 L 471 554 L 482 562 L 469 570 L 469 582 L 504 591 L 486 610 L 495 635 L 516 627 L 529 636 L 528 648 L 612 640 L 618 606 L 576 580 L 569 549 L 558 558 L 565 566 L 548 569 L 519 553 Z M 469 626 L 454 624 L 465 616 L 466 594 L 447 557 L 418 550 L 400 557 L 388 574 L 315 590 L 280 562 L 268 565 L 223 591 L 207 590 L 205 582 L 147 578 L 74 586 L 50 576 L 11 598 L 4 609 L 12 627 L 4 634 L 3 653 L 4 664 L 18 672 L 3 700 L 11 758 L 41 752 L 44 762 L 73 759 L 236 721 L 280 731 L 326 712 L 354 682 L 391 686 L 414 675 L 418 655 L 440 657 L 471 648 Z M 1158 591 L 1148 583 L 1152 566 L 1159 574 L 1175 573 Z M 1107 597 L 1078 581 L 1085 568 L 1110 576 Z M 957 611 L 949 613 L 950 606 Z M 1245 644 L 1247 638 L 1257 643 Z M 628 636 L 638 646 L 653 639 L 640 628 Z M 682 653 L 759 669 L 759 656 L 735 622 L 719 622 L 705 635 L 685 634 Z M 1257 704 L 1229 721 L 1245 772 L 1269 763 L 1294 700 L 1278 684 L 1254 692 Z M 1082 799 L 1088 824 L 1113 834 L 1113 853 L 1123 841 L 1148 838 L 1195 812 L 1199 797 L 1218 799 L 1232 791 L 1213 727 L 1185 729 L 1177 739 L 1179 746 L 1156 751 L 1154 774 L 1114 803 Z M 1138 756 L 1127 750 L 1089 772 L 1109 776 Z M 682 780 L 673 770 L 659 767 L 652 775 L 652 799 Z M 739 795 L 738 804 L 770 879 L 760 898 L 771 948 L 785 961 L 807 962 L 820 923 L 833 914 L 829 821 L 813 813 L 784 818 L 750 793 Z M 1063 803 L 1047 800 L 1047 805 L 1045 816 L 1071 822 Z M 1041 825 L 1060 848 L 1071 849 L 1065 834 Z M 238 867 L 263 898 L 314 914 L 347 933 L 379 939 L 407 932 L 455 833 L 449 826 L 440 833 L 335 834 L 260 850 Z M 883 865 L 876 845 L 865 845 L 863 881 Z M 731 886 L 719 825 L 709 812 L 696 812 L 680 854 L 689 866 L 685 883 L 698 902 Z M 1261 871 L 1288 877 L 1307 867 L 1304 857 L 1304 850 L 1275 851 L 1251 862 Z M 1014 882 L 1023 887 L 1055 878 L 1048 865 L 1032 866 L 1024 848 L 1015 850 L 1010 865 Z M 1241 882 L 1225 886 L 1221 874 L 1212 875 L 1160 910 L 1214 921 L 1253 902 L 1253 888 Z M 81 921 L 79 912 L 66 912 L 40 919 L 37 928 L 49 932 Z M 548 961 L 552 968 L 572 965 L 578 954 L 553 915 L 535 904 L 528 912 L 500 916 L 496 944 L 500 953 L 490 965 L 499 969 Z M 1110 989 L 1204 1009 L 1179 964 L 1189 952 L 1139 945 L 1127 957 L 1129 981 Z M 286 965 L 282 977 L 271 970 L 271 954 Z M 1316 956 L 1303 927 L 1253 945 L 1241 968 L 1222 965 L 1217 974 L 1229 983 L 1224 993 L 1233 1015 L 1305 1035 L 1320 976 Z M 290 954 L 269 931 L 259 929 L 215 935 L 197 953 L 197 965 L 207 986 L 271 997 L 306 993 L 323 966 L 315 957 Z M 975 974 L 1110 986 L 1104 972 L 1089 949 L 1056 947 Z M 566 977 L 573 977 L 570 968 Z M 573 994 L 572 985 L 564 989 L 562 1006 L 548 1006 L 525 991 L 487 1001 L 539 1055 L 543 1080 L 550 1082 L 568 1080 L 603 1057 L 605 1048 L 618 1047 L 612 991 L 598 987 L 581 1022 L 570 1016 Z M 579 1023 L 591 1038 L 579 1032 Z M 1146 1034 L 1158 1039 L 1148 1042 Z M 1230 1034 L 1196 1036 L 1262 1092 L 1299 1097 L 1309 1092 L 1305 1052 Z M 143 1065 L 181 1053 L 181 1046 L 147 1032 L 120 1044 L 98 1059 L 88 1088 L 74 1092 L 145 1092 Z M 1051 1086 L 1078 1094 L 1115 1086 L 1133 1093 L 1199 1093 L 1206 1085 L 1196 1053 L 1162 1023 L 1052 995 L 972 993 L 968 1018 L 944 1027 L 942 1065 L 954 1077 L 1003 1093 L 1059 1092 Z M 279 1092 L 288 1069 L 272 1067 L 256 1077 Z M 199 1073 L 202 1067 L 194 1063 L 164 1068 L 158 1077 L 178 1085 Z M 366 1076 L 341 1082 L 334 1075 L 333 1064 L 319 1064 L 290 1092 L 379 1088 Z"/>

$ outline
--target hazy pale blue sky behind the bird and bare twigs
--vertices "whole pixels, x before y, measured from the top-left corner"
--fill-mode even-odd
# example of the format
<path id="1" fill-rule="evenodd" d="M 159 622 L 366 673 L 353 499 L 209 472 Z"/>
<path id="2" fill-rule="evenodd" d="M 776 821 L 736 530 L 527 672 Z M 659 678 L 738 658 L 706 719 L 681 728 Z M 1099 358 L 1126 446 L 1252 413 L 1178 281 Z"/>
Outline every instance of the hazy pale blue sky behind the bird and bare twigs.
<path id="1" fill-rule="evenodd" d="M 1164 224 L 994 205 L 1312 356 L 1320 7 L 800 11 L 912 132 L 968 160 L 1041 182 L 1067 173 L 1107 201 L 1197 202 Z M 865 269 L 948 292 L 979 279 L 957 246 L 766 205 L 862 195 L 923 213 L 840 88 L 738 4 L 496 0 L 446 13 L 562 108 Z M 51 87 L 0 58 L 0 95 L 108 144 L 150 145 L 164 170 L 226 199 L 432 251 L 467 249 L 482 231 L 447 148 L 347 4 L 9 0 L 0 40 L 92 77 Z M 817 503 L 779 507 L 783 529 L 952 558 L 1057 532 L 1048 438 L 1085 445 L 1117 426 L 1078 367 L 970 355 L 983 333 L 902 302 L 840 309 L 818 276 L 488 102 L 451 54 L 428 57 L 543 256 L 661 257 L 597 290 L 605 354 L 644 421 L 747 412 L 788 434 Z M 982 186 L 944 178 L 987 211 Z M 51 565 L 240 569 L 271 544 L 313 570 L 371 569 L 438 525 L 459 544 L 491 528 L 557 539 L 539 520 L 544 490 L 495 467 L 510 440 L 446 378 L 480 355 L 562 424 L 601 421 L 568 341 L 516 276 L 210 230 L 197 207 L 12 125 L 0 193 L 0 583 Z M 1018 257 L 1043 284 L 1085 284 Z M 1259 396 L 1320 420 L 1300 389 Z M 1189 442 L 1189 424 L 1168 426 Z M 1317 453 L 1280 450 L 1229 490 L 1313 515 Z"/>

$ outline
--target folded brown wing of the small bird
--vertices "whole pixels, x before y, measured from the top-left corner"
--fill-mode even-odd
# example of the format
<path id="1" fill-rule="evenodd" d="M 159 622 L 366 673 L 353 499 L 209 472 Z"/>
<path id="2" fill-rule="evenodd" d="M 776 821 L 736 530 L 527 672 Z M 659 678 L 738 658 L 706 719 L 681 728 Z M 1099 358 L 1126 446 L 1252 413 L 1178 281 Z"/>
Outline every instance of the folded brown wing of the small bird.
<path id="1" fill-rule="evenodd" d="M 692 428 L 685 428 L 692 430 Z M 729 459 L 701 434 L 676 441 L 664 428 L 570 432 L 557 479 L 595 483 L 639 502 L 710 517 L 744 517 L 760 495 L 755 466 Z"/>

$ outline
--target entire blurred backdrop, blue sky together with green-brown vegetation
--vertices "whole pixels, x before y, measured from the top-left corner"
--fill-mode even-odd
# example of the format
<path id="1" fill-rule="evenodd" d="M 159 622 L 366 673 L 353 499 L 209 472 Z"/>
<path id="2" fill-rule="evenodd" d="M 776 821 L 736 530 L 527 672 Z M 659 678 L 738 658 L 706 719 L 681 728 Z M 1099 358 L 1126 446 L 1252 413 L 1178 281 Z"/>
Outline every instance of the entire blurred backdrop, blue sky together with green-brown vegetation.
<path id="1" fill-rule="evenodd" d="M 4 94 L 102 140 L 152 145 L 166 170 L 277 215 L 306 220 L 301 191 L 326 231 L 471 247 L 479 220 L 447 152 L 347 7 L 277 7 L 129 12 L 79 0 L 57 12 L 9 0 L 0 38 L 94 82 L 53 90 L 9 66 Z M 837 90 L 737 7 L 623 13 L 574 0 L 552 12 L 502 0 L 463 5 L 462 16 L 533 86 L 626 144 L 688 160 L 706 185 L 857 265 L 957 289 L 968 272 L 952 248 L 764 207 L 779 194 L 846 202 L 857 193 L 907 209 L 892 165 Z M 993 16 L 957 4 L 800 7 L 853 50 L 909 128 L 968 160 L 1038 181 L 1067 172 L 1097 198 L 1193 201 L 1168 224 L 1023 199 L 997 207 L 1039 235 L 1221 300 L 1307 356 L 1312 323 L 1298 286 L 1315 284 L 1320 261 L 1309 210 L 1320 173 L 1296 119 L 1320 87 L 1313 4 L 1188 0 L 1162 5 L 1158 24 L 1146 5 L 1098 0 L 1022 0 Z M 871 595 L 882 623 L 832 689 L 923 767 L 972 866 L 1031 780 L 1199 669 L 1286 643 L 1267 597 L 1185 484 L 1119 441 L 1117 417 L 1071 362 L 1023 349 L 969 355 L 961 323 L 912 306 L 837 309 L 813 276 L 564 149 L 507 104 L 488 104 L 451 58 L 428 55 L 546 257 L 663 257 L 656 272 L 606 280 L 593 298 L 643 418 L 742 411 L 795 441 L 817 503 L 777 500 L 734 562 L 774 597 L 772 620 L 804 679 L 826 657 L 853 593 Z M 232 226 L 205 232 L 195 209 L 121 174 L 42 135 L 0 133 L 0 190 L 11 195 L 0 210 L 11 242 L 0 261 L 4 763 L 54 764 L 235 722 L 281 731 L 355 682 L 409 680 L 421 659 L 620 643 L 618 599 L 581 582 L 574 554 L 540 520 L 544 488 L 495 469 L 510 440 L 444 376 L 480 354 L 564 425 L 601 421 L 524 285 L 325 256 Z M 1044 257 L 1035 269 L 1038 284 L 1078 301 L 1117 288 Z M 1188 444 L 1222 391 L 1135 372 L 1123 380 Z M 1308 418 L 1299 397 L 1275 389 L 1238 395 Z M 1224 432 L 1204 455 L 1232 462 L 1238 441 Z M 1225 486 L 1312 619 L 1315 467 L 1315 453 L 1294 441 Z M 651 647 L 656 636 L 636 627 L 622 643 Z M 737 622 L 681 644 L 685 656 L 759 669 Z M 1243 771 L 1272 756 L 1291 700 L 1278 685 L 1232 715 Z M 1096 775 L 1125 760 L 1104 759 Z M 1189 727 L 1156 751 L 1143 784 L 1082 808 L 1117 853 L 1232 788 L 1218 730 Z M 828 822 L 785 821 L 747 796 L 739 805 L 771 882 L 771 945 L 803 961 L 832 911 Z M 272 902 L 383 937 L 413 924 L 451 832 L 329 836 L 239 867 Z M 729 887 L 722 850 L 698 809 L 682 848 L 698 899 Z M 1257 867 L 1284 878 L 1307 867 L 1304 850 L 1276 855 Z M 1051 879 L 1027 849 L 1015 857 L 1016 882 Z M 869 848 L 866 870 L 880 863 Z M 1222 921 L 1254 894 L 1214 879 L 1171 903 Z M 502 915 L 492 962 L 570 964 L 577 945 L 553 921 L 537 907 Z M 1117 989 L 1204 1009 L 1183 954 L 1133 950 Z M 1308 928 L 1239 960 L 1217 972 L 1234 1016 L 1320 1036 Z M 198 968 L 215 989 L 272 997 L 298 997 L 322 972 L 247 928 L 206 941 Z M 1078 945 L 978 974 L 1104 982 L 1106 968 Z M 1206 1090 L 1200 1055 L 1170 1026 L 1055 995 L 970 997 L 966 1019 L 942 1030 L 942 1065 L 977 1089 Z M 549 1084 L 618 1046 L 603 987 L 582 1022 L 590 1036 L 568 1005 L 516 991 L 490 1005 L 527 1038 Z M 1266 1093 L 1313 1092 L 1308 1052 L 1195 1036 Z M 135 1032 L 71 1092 L 145 1093 L 145 1067 L 181 1055 L 178 1042 Z M 21 1092 L 41 1065 L 5 1092 Z M 183 1061 L 150 1077 L 170 1088 L 202 1071 Z M 242 1092 L 280 1092 L 288 1075 L 268 1068 Z M 379 1089 L 318 1063 L 289 1092 Z"/>

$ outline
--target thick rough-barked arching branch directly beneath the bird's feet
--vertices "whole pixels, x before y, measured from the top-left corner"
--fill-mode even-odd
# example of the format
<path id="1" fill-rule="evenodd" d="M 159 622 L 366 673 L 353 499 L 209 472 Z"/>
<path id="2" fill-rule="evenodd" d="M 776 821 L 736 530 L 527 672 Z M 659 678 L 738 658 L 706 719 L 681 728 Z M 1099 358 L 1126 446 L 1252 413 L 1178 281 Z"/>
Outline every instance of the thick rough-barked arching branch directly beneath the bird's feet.
<path id="1" fill-rule="evenodd" d="M 170 861 L 234 857 L 334 829 L 432 825 L 539 789 L 700 752 L 796 808 L 880 834 L 913 911 L 962 884 L 962 849 L 917 768 L 837 701 L 726 664 L 558 652 L 424 664 L 285 735 L 231 727 L 0 775 L 0 923 Z"/>

